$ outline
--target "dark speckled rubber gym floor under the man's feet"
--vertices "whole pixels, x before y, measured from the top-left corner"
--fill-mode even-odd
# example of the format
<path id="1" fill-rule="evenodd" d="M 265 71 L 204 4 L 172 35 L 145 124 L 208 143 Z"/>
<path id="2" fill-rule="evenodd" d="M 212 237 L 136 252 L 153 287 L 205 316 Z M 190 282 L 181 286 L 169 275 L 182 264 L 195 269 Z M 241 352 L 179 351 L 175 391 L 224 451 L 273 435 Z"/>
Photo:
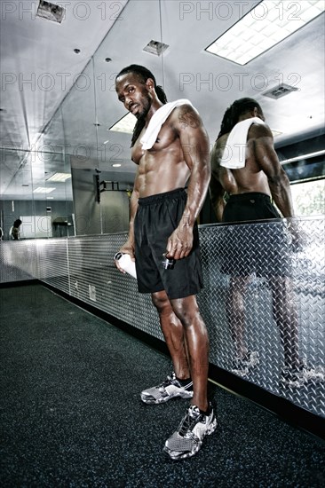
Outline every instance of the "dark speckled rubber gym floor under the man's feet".
<path id="1" fill-rule="evenodd" d="M 194 458 L 167 459 L 188 402 L 139 392 L 169 358 L 42 285 L 0 298 L 2 487 L 325 485 L 321 439 L 212 384 L 217 431 Z"/>

